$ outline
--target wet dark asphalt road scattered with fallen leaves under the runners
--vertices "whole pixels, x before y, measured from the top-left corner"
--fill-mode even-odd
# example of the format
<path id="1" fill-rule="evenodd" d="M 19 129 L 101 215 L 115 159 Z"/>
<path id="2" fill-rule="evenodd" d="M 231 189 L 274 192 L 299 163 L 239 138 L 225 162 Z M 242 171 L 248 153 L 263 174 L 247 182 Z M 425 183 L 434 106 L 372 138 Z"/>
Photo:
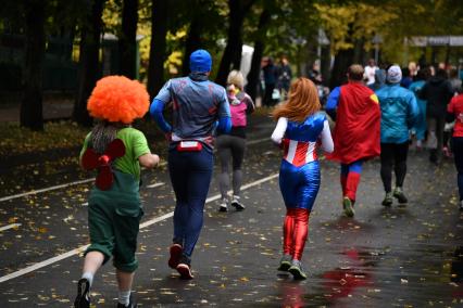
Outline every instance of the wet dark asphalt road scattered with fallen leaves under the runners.
<path id="1" fill-rule="evenodd" d="M 410 153 L 404 187 L 410 203 L 404 208 L 380 205 L 379 162 L 366 163 L 353 219 L 341 213 L 339 167 L 322 161 L 322 187 L 302 259 L 309 278 L 293 281 L 278 272 L 285 215 L 276 177 L 280 153 L 261 140 L 272 128 L 270 120 L 260 121 L 249 136 L 256 142 L 246 158 L 245 211 L 216 210 L 215 172 L 191 281 L 179 280 L 166 265 L 173 231 L 166 214 L 174 198 L 165 167 L 145 172 L 142 222 L 152 224 L 145 224 L 139 236 L 134 290 L 140 306 L 463 307 L 463 215 L 454 167 L 448 159 L 436 168 L 423 152 Z M 45 180 L 57 182 L 53 177 Z M 87 244 L 89 187 L 0 203 L 1 226 L 22 223 L 0 231 L 0 280 Z M 0 307 L 70 307 L 82 262 L 72 255 L 0 282 Z M 92 300 L 97 307 L 114 307 L 115 297 L 114 270 L 108 264 L 96 277 Z"/>

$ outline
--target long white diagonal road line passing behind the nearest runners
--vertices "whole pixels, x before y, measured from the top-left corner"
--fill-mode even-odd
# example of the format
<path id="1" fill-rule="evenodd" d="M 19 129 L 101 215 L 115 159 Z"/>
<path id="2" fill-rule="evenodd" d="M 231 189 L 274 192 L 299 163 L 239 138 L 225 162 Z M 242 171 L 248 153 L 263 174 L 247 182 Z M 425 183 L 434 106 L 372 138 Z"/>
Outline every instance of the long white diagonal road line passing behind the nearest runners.
<path id="1" fill-rule="evenodd" d="M 255 187 L 255 185 L 259 185 L 259 184 L 262 184 L 262 183 L 264 183 L 266 181 L 270 181 L 270 180 L 273 180 L 273 179 L 275 179 L 277 177 L 278 177 L 278 174 L 275 174 L 275 175 L 271 175 L 268 177 L 262 178 L 260 180 L 250 182 L 250 183 L 248 183 L 246 185 L 242 185 L 241 187 L 241 191 L 247 190 L 247 189 L 252 188 L 252 187 Z M 207 198 L 205 203 L 213 202 L 215 200 L 218 200 L 220 197 L 221 197 L 221 194 L 213 195 L 213 196 Z M 153 219 L 150 219 L 148 221 L 145 221 L 143 223 L 140 223 L 140 229 L 147 228 L 147 227 L 149 227 L 151 224 L 154 224 L 154 223 L 157 223 L 159 221 L 162 221 L 162 220 L 165 220 L 167 218 L 171 218 L 172 216 L 174 216 L 174 211 L 164 214 L 164 215 L 159 216 L 159 217 L 154 217 Z M 21 269 L 18 271 L 15 271 L 15 272 L 9 273 L 7 275 L 0 277 L 0 283 L 9 281 L 9 280 L 12 280 L 12 279 L 15 279 L 15 278 L 18 278 L 18 277 L 24 275 L 26 273 L 33 272 L 35 270 L 41 269 L 41 268 L 47 267 L 49 265 L 52 265 L 54 262 L 58 262 L 58 261 L 61 261 L 61 260 L 66 259 L 68 257 L 72 257 L 74 255 L 77 255 L 77 254 L 84 252 L 88 246 L 89 245 L 80 246 L 78 248 L 72 249 L 72 251 L 70 251 L 67 253 L 64 253 L 62 255 L 58 255 L 55 257 L 52 257 L 50 259 L 37 262 L 35 265 L 32 265 L 32 266 L 26 267 L 24 269 Z"/>

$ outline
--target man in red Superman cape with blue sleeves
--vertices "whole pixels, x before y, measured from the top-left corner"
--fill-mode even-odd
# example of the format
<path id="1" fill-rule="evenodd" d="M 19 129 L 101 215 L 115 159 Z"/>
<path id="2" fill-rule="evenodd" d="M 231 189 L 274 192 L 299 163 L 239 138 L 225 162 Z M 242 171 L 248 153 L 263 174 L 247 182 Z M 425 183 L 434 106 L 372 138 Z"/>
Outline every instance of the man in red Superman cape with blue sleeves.
<path id="1" fill-rule="evenodd" d="M 348 84 L 335 88 L 328 97 L 326 112 L 336 120 L 335 151 L 328 158 L 341 163 L 342 206 L 353 217 L 362 164 L 380 153 L 380 111 L 378 98 L 362 82 L 363 67 L 348 69 Z"/>

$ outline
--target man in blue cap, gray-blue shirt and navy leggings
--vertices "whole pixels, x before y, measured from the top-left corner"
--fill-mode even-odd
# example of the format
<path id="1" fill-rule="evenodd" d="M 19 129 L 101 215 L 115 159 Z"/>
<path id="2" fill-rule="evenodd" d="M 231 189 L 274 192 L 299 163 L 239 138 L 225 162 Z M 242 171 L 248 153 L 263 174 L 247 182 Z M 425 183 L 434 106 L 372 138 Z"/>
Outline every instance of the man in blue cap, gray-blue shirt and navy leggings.
<path id="1" fill-rule="evenodd" d="M 168 172 L 174 188 L 174 238 L 168 266 L 191 279 L 191 255 L 203 223 L 203 208 L 214 165 L 212 132 L 229 132 L 232 116 L 222 86 L 210 81 L 212 59 L 208 51 L 190 55 L 188 77 L 168 80 L 154 98 L 150 113 L 170 141 Z M 172 102 L 172 126 L 163 116 Z"/>

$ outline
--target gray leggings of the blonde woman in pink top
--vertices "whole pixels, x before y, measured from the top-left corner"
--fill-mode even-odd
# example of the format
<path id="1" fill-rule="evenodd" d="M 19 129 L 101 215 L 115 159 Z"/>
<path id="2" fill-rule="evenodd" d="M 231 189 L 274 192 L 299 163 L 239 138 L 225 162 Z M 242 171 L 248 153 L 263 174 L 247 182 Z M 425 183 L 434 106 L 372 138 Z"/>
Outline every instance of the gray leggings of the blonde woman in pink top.
<path id="1" fill-rule="evenodd" d="M 221 134 L 215 140 L 217 147 L 217 156 L 221 163 L 221 175 L 218 177 L 218 185 L 222 194 L 222 198 L 227 197 L 227 191 L 229 188 L 229 164 L 233 166 L 233 193 L 239 196 L 242 183 L 242 158 L 245 157 L 246 139 Z"/>

